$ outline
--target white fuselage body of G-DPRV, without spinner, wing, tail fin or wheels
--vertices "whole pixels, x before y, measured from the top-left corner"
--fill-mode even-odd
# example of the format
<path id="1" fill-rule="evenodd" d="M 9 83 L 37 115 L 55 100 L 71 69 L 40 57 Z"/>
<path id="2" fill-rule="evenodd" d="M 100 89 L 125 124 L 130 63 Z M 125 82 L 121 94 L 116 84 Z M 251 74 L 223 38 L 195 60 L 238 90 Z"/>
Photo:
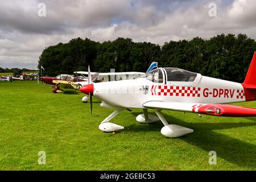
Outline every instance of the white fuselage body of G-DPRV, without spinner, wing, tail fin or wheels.
<path id="1" fill-rule="evenodd" d="M 179 70 L 181 69 L 177 69 Z M 179 78 L 168 78 L 174 75 L 171 72 L 169 74 L 167 69 L 159 68 L 158 79 L 150 80 L 148 77 L 142 77 L 135 80 L 93 84 L 93 95 L 111 105 L 126 108 L 143 108 L 142 105 L 148 101 L 201 104 L 246 101 L 242 84 L 190 73 L 191 76 L 188 75 L 188 78 L 184 76 L 181 81 L 177 81 Z"/>

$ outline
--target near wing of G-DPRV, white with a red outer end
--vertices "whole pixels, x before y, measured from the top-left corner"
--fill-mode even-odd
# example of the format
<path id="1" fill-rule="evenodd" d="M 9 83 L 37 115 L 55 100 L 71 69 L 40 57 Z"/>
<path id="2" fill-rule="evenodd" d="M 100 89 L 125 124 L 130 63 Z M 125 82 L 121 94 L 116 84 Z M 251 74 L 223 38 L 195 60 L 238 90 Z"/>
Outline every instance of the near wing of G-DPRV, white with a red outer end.
<path id="1" fill-rule="evenodd" d="M 143 107 L 160 110 L 177 110 L 192 113 L 229 117 L 255 117 L 256 109 L 226 104 L 200 104 L 184 102 L 149 101 Z"/>

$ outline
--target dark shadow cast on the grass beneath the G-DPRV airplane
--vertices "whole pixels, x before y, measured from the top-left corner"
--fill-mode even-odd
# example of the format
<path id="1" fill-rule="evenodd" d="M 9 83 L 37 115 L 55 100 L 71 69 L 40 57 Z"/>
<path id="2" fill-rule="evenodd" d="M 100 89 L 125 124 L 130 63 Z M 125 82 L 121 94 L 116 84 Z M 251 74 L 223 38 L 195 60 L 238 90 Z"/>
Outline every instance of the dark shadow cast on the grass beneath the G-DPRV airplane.
<path id="1" fill-rule="evenodd" d="M 133 113 L 138 115 L 141 113 Z M 154 113 L 150 113 L 154 114 Z M 177 119 L 168 114 L 163 114 L 168 123 L 176 124 L 193 129 L 194 132 L 188 135 L 184 135 L 179 139 L 200 147 L 203 150 L 216 151 L 217 157 L 225 159 L 226 161 L 236 164 L 241 167 L 249 167 L 253 170 L 256 168 L 256 145 L 244 142 L 240 139 L 229 137 L 228 135 L 219 134 L 214 130 L 233 129 L 237 127 L 256 126 L 256 123 L 232 123 L 232 122 L 217 122 L 217 123 L 189 123 L 181 119 Z M 248 118 L 255 121 L 256 118 Z M 147 131 L 159 131 L 162 129 L 162 122 L 155 122 L 142 125 L 130 125 L 126 127 L 129 131 L 144 132 Z M 239 134 L 238 134 L 239 135 Z M 217 158 L 218 160 L 218 158 Z"/>

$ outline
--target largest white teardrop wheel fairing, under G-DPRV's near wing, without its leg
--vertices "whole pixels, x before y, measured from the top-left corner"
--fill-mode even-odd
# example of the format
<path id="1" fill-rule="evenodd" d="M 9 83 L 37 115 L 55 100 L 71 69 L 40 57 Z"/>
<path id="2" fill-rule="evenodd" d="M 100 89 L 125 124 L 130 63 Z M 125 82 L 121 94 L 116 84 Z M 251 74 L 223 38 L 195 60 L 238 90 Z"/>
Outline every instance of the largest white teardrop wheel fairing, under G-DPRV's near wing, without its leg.
<path id="1" fill-rule="evenodd" d="M 166 125 L 161 130 L 162 135 L 168 138 L 177 138 L 192 132 L 192 129 L 180 125 Z"/>

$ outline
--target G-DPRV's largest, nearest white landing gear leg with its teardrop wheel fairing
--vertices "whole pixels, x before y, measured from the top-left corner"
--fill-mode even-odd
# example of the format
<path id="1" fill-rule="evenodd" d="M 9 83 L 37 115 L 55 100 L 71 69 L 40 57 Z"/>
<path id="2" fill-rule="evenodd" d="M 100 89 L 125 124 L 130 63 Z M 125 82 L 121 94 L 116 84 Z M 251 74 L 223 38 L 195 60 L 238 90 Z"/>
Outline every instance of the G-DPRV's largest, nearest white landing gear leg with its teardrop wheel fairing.
<path id="1" fill-rule="evenodd" d="M 162 135 L 168 138 L 177 138 L 181 137 L 185 134 L 192 133 L 192 129 L 188 129 L 187 127 L 184 126 L 179 126 L 179 125 L 169 125 L 168 122 L 166 121 L 166 118 L 164 118 L 163 114 L 160 112 L 160 110 L 155 109 L 156 115 L 160 118 L 162 121 L 164 127 L 161 130 Z"/>

